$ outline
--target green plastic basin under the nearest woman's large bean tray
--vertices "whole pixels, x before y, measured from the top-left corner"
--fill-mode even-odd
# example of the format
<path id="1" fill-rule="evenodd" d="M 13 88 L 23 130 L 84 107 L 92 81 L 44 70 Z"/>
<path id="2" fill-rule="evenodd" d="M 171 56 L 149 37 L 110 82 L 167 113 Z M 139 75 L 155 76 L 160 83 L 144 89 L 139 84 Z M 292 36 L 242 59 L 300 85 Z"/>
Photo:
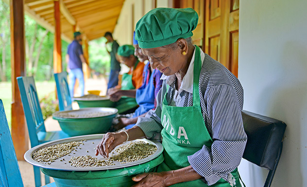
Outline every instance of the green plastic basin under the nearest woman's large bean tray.
<path id="1" fill-rule="evenodd" d="M 131 187 L 136 184 L 131 179 L 133 176 L 154 172 L 163 160 L 161 153 L 146 163 L 114 170 L 64 171 L 41 168 L 41 171 L 53 177 L 57 187 Z"/>

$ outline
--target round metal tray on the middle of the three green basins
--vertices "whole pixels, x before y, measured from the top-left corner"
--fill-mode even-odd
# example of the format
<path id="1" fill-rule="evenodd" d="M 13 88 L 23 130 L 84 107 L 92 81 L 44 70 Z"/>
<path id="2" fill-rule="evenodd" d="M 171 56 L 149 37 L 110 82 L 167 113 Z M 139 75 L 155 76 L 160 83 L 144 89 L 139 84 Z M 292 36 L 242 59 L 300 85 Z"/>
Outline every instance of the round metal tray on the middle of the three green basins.
<path id="1" fill-rule="evenodd" d="M 115 115 L 119 110 L 116 108 L 108 108 L 108 107 L 95 107 L 95 108 L 80 108 L 78 110 L 66 110 L 66 111 L 57 111 L 52 114 L 52 117 L 54 119 L 89 119 L 89 118 L 101 118 L 101 117 L 107 117 L 111 115 Z M 75 114 L 75 115 L 84 115 L 86 113 L 91 114 L 95 112 L 110 112 L 108 115 L 97 115 L 95 117 L 63 117 L 59 116 L 59 114 L 63 113 L 70 113 L 70 114 Z"/>

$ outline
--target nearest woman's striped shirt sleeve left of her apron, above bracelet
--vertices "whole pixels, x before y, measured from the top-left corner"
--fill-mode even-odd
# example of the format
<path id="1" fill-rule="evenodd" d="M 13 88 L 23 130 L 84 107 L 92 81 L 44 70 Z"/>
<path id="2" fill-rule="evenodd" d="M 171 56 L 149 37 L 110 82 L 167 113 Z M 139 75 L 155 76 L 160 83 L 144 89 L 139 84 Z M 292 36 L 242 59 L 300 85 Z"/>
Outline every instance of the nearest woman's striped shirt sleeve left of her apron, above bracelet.
<path id="1" fill-rule="evenodd" d="M 162 101 L 164 99 L 165 92 L 167 90 L 166 83 L 163 81 L 162 88 L 157 94 L 156 101 L 157 107 L 155 110 L 150 110 L 145 117 L 138 118 L 136 126 L 138 126 L 145 134 L 148 139 L 161 139 L 161 131 L 163 126 L 161 124 L 161 113 L 162 113 Z"/>

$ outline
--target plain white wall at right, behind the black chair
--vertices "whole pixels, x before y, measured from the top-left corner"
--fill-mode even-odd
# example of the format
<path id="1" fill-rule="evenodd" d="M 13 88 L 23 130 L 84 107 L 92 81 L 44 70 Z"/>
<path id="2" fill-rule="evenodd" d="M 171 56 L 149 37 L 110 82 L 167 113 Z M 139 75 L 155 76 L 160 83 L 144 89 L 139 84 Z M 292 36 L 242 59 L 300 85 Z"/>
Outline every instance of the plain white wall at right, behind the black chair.
<path id="1" fill-rule="evenodd" d="M 241 0 L 239 80 L 244 109 L 287 124 L 272 187 L 307 187 L 307 0 Z M 267 170 L 242 162 L 247 187 Z"/>

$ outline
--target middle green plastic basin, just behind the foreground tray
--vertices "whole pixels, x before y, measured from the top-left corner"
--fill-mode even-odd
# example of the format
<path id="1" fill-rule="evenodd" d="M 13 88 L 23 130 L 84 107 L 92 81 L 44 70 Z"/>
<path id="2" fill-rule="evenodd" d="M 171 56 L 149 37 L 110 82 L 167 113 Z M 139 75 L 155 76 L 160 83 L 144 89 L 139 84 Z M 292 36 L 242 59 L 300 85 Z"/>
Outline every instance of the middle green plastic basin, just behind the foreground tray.
<path id="1" fill-rule="evenodd" d="M 116 108 L 82 108 L 77 111 L 88 112 L 89 110 L 93 112 L 112 111 L 112 114 L 95 118 L 61 118 L 56 116 L 60 112 L 56 112 L 52 115 L 52 118 L 58 120 L 62 131 L 69 136 L 82 136 L 105 133 L 111 127 L 112 120 L 118 112 Z"/>

